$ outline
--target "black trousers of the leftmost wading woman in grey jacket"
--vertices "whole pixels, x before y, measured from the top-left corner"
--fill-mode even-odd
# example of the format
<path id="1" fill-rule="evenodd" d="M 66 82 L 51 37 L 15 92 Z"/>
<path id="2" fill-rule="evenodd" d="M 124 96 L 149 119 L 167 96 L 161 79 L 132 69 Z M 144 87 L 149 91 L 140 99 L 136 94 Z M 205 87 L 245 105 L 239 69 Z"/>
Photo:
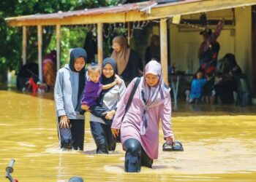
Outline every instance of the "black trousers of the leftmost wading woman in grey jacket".
<path id="1" fill-rule="evenodd" d="M 60 120 L 61 118 L 58 117 L 58 122 Z M 69 121 L 69 128 L 60 128 L 58 124 L 61 148 L 83 151 L 85 119 L 69 119 Z"/>

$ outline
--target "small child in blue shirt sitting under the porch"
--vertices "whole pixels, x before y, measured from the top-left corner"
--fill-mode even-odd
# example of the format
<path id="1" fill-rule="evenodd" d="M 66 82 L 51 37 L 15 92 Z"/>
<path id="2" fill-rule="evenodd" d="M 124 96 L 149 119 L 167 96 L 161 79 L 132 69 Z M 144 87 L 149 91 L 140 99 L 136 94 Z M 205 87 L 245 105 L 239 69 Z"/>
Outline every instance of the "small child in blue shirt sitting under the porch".
<path id="1" fill-rule="evenodd" d="M 192 80 L 191 92 L 187 90 L 187 101 L 189 103 L 198 103 L 203 96 L 203 87 L 207 83 L 207 79 L 203 78 L 203 72 L 198 71 L 196 79 Z"/>

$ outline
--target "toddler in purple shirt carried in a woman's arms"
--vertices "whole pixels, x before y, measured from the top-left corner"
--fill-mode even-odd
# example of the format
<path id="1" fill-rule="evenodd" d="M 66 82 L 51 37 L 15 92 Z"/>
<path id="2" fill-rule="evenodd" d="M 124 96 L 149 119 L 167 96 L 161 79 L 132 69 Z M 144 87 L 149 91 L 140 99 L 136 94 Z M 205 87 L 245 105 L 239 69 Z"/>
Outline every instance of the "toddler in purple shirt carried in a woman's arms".
<path id="1" fill-rule="evenodd" d="M 108 108 L 103 107 L 99 104 L 99 96 L 102 90 L 108 90 L 115 86 L 118 81 L 112 82 L 110 84 L 103 85 L 99 82 L 100 80 L 100 68 L 97 64 L 91 64 L 88 67 L 89 81 L 86 81 L 86 86 L 83 92 L 83 98 L 81 100 L 82 105 L 87 105 L 94 116 L 101 117 L 107 123 L 111 124 L 111 119 L 105 119 L 105 112 L 109 111 Z M 118 78 L 119 76 L 116 75 Z"/>

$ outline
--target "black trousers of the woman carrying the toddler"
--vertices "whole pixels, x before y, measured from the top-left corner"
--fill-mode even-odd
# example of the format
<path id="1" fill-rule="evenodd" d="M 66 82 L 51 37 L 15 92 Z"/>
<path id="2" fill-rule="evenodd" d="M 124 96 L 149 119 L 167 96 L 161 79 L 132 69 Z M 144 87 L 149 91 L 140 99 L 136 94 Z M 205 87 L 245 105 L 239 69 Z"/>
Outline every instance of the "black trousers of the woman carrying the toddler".
<path id="1" fill-rule="evenodd" d="M 108 151 L 116 149 L 116 141 L 113 138 L 110 125 L 90 122 L 90 127 L 91 135 L 97 146 L 97 154 L 108 154 Z"/>

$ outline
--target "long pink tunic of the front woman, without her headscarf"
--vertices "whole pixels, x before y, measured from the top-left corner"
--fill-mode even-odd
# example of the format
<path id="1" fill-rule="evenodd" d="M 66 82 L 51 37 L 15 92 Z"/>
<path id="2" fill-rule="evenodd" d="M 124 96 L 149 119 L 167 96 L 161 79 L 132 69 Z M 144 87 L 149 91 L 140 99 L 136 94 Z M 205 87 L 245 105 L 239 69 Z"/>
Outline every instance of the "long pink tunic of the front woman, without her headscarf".
<path id="1" fill-rule="evenodd" d="M 159 148 L 159 120 L 162 120 L 162 130 L 165 137 L 173 136 L 173 131 L 170 125 L 170 112 L 171 112 L 171 102 L 170 93 L 166 89 L 165 100 L 159 106 L 154 108 L 148 108 L 148 127 L 145 135 L 140 135 L 140 122 L 143 120 L 143 101 L 140 99 L 141 88 L 135 92 L 134 98 L 132 100 L 131 106 L 124 116 L 123 122 L 121 122 L 122 116 L 124 115 L 124 109 L 127 104 L 130 92 L 132 92 L 132 87 L 135 84 L 135 80 L 127 87 L 124 96 L 118 103 L 118 110 L 116 111 L 116 116 L 113 119 L 112 128 L 121 128 L 121 143 L 129 138 L 134 138 L 140 141 L 143 149 L 148 154 L 151 159 L 157 159 L 158 148 Z M 141 82 L 141 81 L 140 81 Z"/>

